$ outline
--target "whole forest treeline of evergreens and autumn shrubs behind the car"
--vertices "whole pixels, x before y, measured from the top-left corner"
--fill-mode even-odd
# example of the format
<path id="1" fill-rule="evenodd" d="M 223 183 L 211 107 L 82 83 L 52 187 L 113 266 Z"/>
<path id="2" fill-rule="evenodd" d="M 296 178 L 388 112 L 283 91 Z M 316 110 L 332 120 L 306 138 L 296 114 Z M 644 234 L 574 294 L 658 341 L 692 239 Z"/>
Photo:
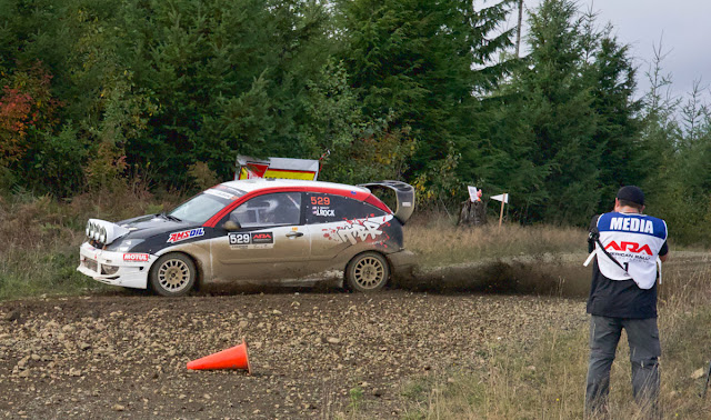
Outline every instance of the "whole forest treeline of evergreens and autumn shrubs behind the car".
<path id="1" fill-rule="evenodd" d="M 638 184 L 711 233 L 711 122 L 571 0 L 0 0 L 0 191 L 186 188 L 236 156 L 401 179 L 421 206 L 509 192 L 521 222 L 585 224 Z M 661 50 L 660 50 L 661 51 Z M 649 78 L 647 92 L 637 90 Z"/>

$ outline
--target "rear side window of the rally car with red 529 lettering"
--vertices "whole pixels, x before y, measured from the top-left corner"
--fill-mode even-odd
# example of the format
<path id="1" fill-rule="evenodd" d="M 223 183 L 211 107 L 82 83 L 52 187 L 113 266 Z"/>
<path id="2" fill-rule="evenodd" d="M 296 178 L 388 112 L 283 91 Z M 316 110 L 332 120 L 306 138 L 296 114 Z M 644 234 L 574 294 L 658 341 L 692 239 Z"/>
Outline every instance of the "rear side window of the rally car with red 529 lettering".
<path id="1" fill-rule="evenodd" d="M 343 196 L 307 193 L 307 224 L 330 223 L 343 220 L 365 219 L 385 214 L 365 202 Z"/>

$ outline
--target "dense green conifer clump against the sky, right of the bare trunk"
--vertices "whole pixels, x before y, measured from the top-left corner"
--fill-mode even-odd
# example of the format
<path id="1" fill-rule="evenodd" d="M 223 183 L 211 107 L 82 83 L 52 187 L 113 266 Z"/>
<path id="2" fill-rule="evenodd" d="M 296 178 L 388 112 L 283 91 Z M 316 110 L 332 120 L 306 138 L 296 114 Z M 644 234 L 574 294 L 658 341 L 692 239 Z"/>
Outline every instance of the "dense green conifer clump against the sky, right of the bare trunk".
<path id="1" fill-rule="evenodd" d="M 593 14 L 548 0 L 530 14 L 530 54 L 484 103 L 490 126 L 465 161 L 469 178 L 509 192 L 517 219 L 584 224 L 642 180 L 634 69 L 628 47 Z"/>

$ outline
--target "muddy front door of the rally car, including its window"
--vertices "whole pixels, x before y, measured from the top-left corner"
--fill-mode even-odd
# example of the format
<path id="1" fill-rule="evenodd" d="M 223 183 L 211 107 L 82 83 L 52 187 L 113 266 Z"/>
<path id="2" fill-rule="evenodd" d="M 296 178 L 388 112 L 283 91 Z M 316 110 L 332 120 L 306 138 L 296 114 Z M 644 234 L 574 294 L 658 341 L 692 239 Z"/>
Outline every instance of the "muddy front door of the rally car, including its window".
<path id="1" fill-rule="evenodd" d="M 254 197 L 240 204 L 216 229 L 211 241 L 216 280 L 280 279 L 303 274 L 311 250 L 303 227 L 301 192 Z M 239 224 L 224 228 L 227 221 Z"/>

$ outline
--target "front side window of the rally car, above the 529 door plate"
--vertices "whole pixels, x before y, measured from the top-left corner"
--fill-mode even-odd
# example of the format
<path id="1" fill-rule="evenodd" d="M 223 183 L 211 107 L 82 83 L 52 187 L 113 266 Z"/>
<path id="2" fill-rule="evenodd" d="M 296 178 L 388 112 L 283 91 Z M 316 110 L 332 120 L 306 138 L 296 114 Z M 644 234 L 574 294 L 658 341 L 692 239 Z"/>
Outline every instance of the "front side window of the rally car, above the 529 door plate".
<path id="1" fill-rule="evenodd" d="M 277 192 L 254 197 L 230 213 L 242 228 L 288 226 L 301 222 L 301 192 Z"/>

